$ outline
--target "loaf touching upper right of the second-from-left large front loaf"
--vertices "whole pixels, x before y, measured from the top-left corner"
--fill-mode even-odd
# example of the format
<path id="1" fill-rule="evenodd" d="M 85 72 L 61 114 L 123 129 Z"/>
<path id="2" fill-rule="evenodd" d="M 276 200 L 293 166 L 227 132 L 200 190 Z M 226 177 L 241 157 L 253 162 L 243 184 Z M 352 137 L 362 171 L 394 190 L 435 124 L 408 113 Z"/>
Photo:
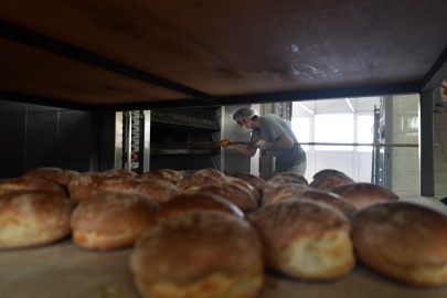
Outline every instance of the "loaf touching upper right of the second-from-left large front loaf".
<path id="1" fill-rule="evenodd" d="M 149 196 L 159 203 L 166 203 L 181 194 L 181 191 L 172 183 L 156 179 L 143 180 L 131 187 L 128 191 Z"/>

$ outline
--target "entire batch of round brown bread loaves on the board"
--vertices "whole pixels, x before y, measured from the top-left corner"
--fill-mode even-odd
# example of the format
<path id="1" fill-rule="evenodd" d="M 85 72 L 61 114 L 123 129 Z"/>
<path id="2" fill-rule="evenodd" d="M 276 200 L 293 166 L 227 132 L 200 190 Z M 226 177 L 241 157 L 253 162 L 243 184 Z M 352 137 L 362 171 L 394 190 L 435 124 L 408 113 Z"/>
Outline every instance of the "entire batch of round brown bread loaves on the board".
<path id="1" fill-rule="evenodd" d="M 447 284 L 447 216 L 382 187 L 323 170 L 202 170 L 137 175 L 41 168 L 0 183 L 0 248 L 72 236 L 88 249 L 134 246 L 145 297 L 253 297 L 265 268 L 307 280 L 347 275 L 356 259 L 396 280 Z"/>

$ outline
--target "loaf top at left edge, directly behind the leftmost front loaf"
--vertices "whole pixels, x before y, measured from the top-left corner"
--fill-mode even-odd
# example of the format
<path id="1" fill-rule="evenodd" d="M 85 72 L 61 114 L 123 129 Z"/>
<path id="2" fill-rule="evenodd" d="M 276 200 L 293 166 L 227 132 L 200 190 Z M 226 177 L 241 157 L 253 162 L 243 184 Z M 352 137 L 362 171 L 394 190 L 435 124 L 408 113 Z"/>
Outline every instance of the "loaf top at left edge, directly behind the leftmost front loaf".
<path id="1" fill-rule="evenodd" d="M 62 185 L 45 178 L 22 177 L 0 182 L 0 194 L 14 190 L 45 190 L 67 196 Z"/>

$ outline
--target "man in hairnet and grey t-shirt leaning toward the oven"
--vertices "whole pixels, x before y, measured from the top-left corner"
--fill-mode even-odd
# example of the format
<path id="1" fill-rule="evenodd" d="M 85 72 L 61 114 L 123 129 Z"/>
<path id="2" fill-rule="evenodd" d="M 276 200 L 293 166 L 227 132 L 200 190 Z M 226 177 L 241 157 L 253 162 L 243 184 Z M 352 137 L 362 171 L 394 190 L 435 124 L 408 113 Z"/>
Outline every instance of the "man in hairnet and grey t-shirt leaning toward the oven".
<path id="1" fill-rule="evenodd" d="M 306 152 L 298 143 L 298 139 L 279 116 L 267 114 L 257 116 L 256 110 L 241 108 L 233 119 L 240 125 L 244 132 L 252 132 L 251 146 L 230 145 L 231 140 L 223 139 L 219 145 L 226 149 L 236 149 L 241 153 L 253 157 L 257 149 L 267 149 L 276 157 L 274 175 L 279 172 L 294 172 L 300 175 L 306 173 Z"/>

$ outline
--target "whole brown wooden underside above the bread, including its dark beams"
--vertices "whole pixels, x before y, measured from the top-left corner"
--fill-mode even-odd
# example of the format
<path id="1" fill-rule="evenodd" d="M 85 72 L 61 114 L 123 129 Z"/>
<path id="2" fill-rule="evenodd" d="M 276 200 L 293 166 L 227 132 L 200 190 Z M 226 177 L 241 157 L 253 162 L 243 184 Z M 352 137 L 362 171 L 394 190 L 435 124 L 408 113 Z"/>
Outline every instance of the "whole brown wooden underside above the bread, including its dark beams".
<path id="1" fill-rule="evenodd" d="M 150 109 L 433 91 L 445 1 L 0 0 L 0 98 Z"/>

